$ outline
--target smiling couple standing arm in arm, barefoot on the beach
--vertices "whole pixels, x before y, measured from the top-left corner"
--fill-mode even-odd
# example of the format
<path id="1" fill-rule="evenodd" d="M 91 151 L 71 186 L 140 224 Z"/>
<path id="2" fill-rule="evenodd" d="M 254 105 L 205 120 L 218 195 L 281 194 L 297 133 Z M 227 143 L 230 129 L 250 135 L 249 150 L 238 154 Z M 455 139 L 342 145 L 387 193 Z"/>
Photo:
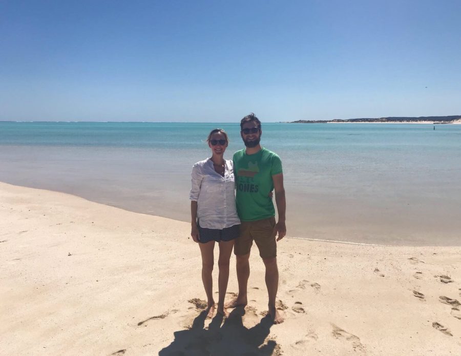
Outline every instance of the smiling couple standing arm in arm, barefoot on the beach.
<path id="1" fill-rule="evenodd" d="M 282 162 L 276 153 L 261 147 L 261 122 L 254 113 L 240 121 L 240 135 L 245 148 L 235 152 L 233 161 L 224 160 L 229 142 L 227 134 L 222 129 L 212 130 L 207 138 L 212 157 L 197 162 L 192 168 L 191 235 L 199 243 L 202 255 L 207 316 L 212 318 L 215 310 L 212 278 L 215 242 L 219 244 L 217 312 L 227 316 L 226 308 L 247 304 L 249 255 L 255 241 L 266 268 L 270 317 L 278 324 L 283 322 L 283 317 L 275 305 L 279 285 L 276 241 L 286 233 Z M 273 190 L 279 213 L 277 224 Z M 237 260 L 239 294 L 224 305 L 232 248 Z"/>

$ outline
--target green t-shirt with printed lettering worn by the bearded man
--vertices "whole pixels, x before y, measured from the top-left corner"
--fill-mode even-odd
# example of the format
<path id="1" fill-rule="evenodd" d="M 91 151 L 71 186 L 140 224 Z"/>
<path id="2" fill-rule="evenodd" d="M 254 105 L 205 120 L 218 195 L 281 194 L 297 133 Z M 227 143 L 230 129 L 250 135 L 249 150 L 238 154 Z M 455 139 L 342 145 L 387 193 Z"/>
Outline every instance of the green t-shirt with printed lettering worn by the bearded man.
<path id="1" fill-rule="evenodd" d="M 241 221 L 256 221 L 275 215 L 268 196 L 274 189 L 272 176 L 282 173 L 280 157 L 264 147 L 255 154 L 245 149 L 234 153 L 237 213 Z"/>

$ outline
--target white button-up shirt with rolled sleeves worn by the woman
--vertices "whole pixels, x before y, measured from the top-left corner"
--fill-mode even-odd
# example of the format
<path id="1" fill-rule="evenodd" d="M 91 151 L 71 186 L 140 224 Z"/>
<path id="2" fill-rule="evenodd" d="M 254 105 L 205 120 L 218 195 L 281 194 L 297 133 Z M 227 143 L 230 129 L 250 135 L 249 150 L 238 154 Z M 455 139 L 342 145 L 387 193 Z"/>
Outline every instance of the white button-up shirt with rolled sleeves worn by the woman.
<path id="1" fill-rule="evenodd" d="M 192 167 L 192 189 L 189 199 L 197 202 L 200 226 L 224 229 L 240 224 L 235 205 L 234 167 L 225 160 L 224 176 L 217 173 L 213 161 L 206 159 Z"/>

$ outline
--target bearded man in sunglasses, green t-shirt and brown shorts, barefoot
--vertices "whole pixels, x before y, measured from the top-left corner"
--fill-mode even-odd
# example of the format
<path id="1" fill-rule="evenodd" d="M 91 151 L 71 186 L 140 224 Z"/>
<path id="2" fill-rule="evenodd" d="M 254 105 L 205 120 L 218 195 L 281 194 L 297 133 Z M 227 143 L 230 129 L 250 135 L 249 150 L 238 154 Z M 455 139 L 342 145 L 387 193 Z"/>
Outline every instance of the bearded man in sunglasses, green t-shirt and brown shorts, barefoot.
<path id="1" fill-rule="evenodd" d="M 234 308 L 247 304 L 248 260 L 255 241 L 266 268 L 270 317 L 275 324 L 279 324 L 283 322 L 283 317 L 275 305 L 279 286 L 276 235 L 278 233 L 279 241 L 286 234 L 282 162 L 276 153 L 261 147 L 261 122 L 254 113 L 242 118 L 240 130 L 245 148 L 234 154 L 237 212 L 242 223 L 240 236 L 234 246 L 239 294 L 227 303 L 226 307 Z M 273 189 L 279 213 L 277 224 L 274 203 L 269 197 L 269 192 Z"/>

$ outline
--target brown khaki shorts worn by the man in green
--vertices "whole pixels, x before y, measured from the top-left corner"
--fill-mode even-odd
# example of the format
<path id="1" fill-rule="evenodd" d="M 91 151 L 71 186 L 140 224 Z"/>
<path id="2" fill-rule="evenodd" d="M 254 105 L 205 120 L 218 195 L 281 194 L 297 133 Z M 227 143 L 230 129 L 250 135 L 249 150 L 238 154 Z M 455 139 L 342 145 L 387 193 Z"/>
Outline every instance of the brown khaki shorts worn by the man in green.
<path id="1" fill-rule="evenodd" d="M 277 242 L 275 229 L 275 217 L 257 221 L 242 221 L 240 236 L 235 240 L 234 253 L 238 256 L 248 254 L 253 245 L 253 240 L 259 249 L 259 255 L 263 259 L 277 256 Z"/>

